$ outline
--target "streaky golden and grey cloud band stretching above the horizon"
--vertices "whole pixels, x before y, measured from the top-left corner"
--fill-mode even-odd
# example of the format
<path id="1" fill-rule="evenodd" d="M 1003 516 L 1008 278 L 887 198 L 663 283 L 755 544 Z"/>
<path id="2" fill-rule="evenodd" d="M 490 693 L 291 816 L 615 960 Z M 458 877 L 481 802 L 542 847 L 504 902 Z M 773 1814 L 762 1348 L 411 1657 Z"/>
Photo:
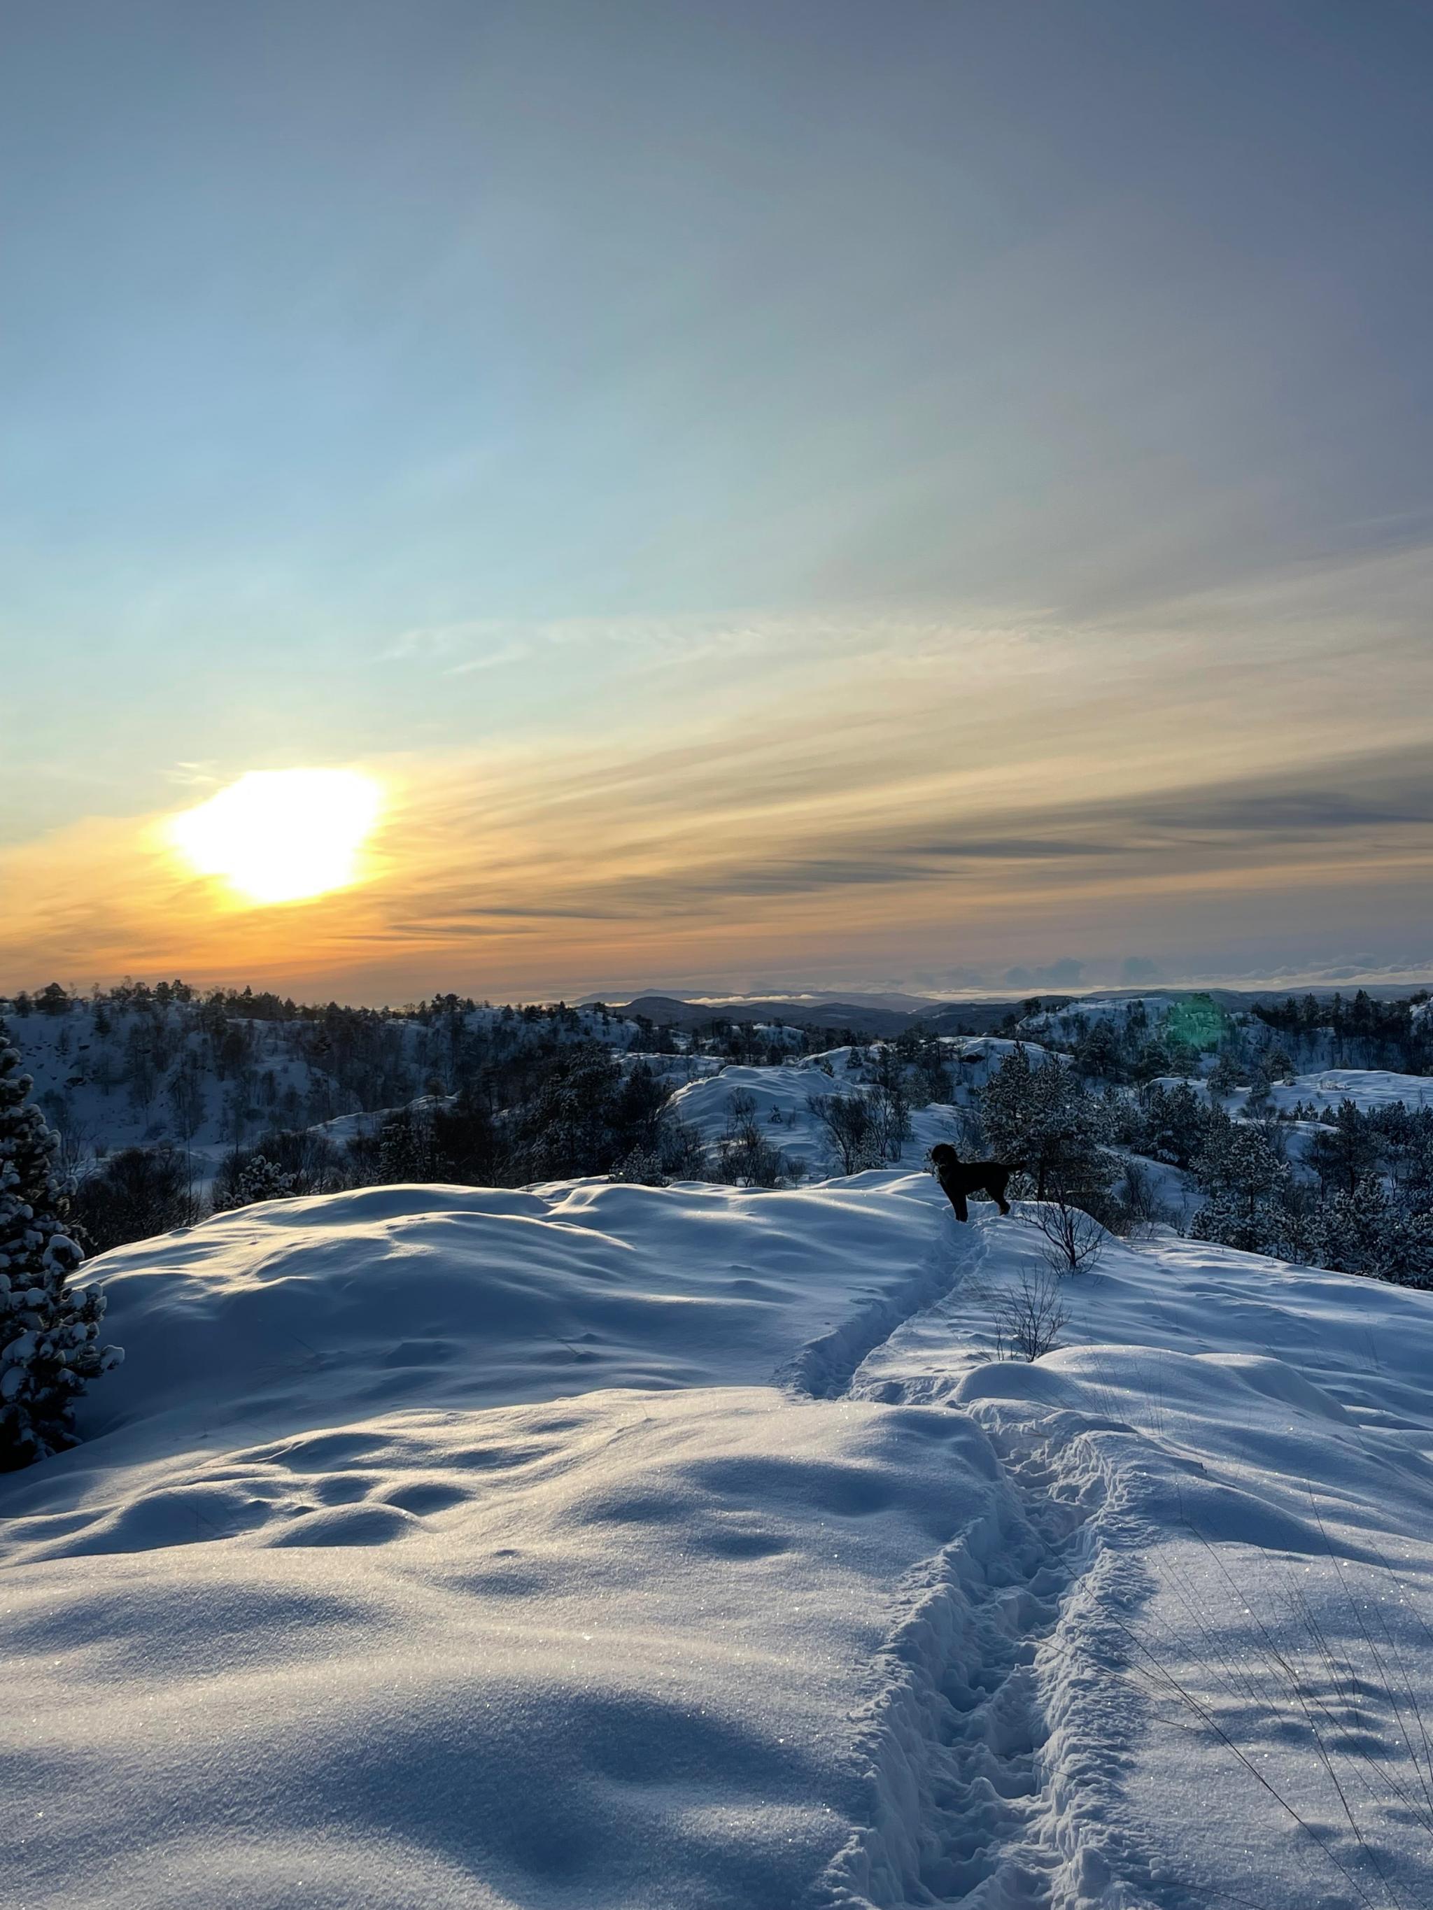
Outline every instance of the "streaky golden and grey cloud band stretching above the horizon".
<path id="1" fill-rule="evenodd" d="M 627 619 L 640 655 L 730 636 L 724 667 L 673 670 L 655 703 L 594 693 L 581 722 L 554 714 L 522 741 L 355 764 L 397 800 L 374 881 L 321 905 L 222 905 L 145 846 L 153 817 L 13 844 L 0 974 L 162 968 L 369 995 L 640 974 L 730 991 L 1011 970 L 1009 986 L 1074 987 L 1116 976 L 1131 944 L 1146 953 L 1127 980 L 1152 978 L 1135 963 L 1334 965 L 1349 909 L 1389 963 L 1433 940 L 1433 657 L 1401 625 L 1355 640 L 1341 594 L 1324 623 L 1297 604 L 1284 592 L 1248 626 L 1230 611 L 1198 642 L 1173 611 L 1139 638 L 791 619 L 766 628 L 789 642 L 760 667 L 741 619 Z M 514 630 L 413 630 L 403 655 L 497 667 L 501 638 L 600 661 L 613 626 Z M 545 680 L 541 657 L 524 667 Z M 1070 953 L 1051 961 L 1051 944 Z"/>

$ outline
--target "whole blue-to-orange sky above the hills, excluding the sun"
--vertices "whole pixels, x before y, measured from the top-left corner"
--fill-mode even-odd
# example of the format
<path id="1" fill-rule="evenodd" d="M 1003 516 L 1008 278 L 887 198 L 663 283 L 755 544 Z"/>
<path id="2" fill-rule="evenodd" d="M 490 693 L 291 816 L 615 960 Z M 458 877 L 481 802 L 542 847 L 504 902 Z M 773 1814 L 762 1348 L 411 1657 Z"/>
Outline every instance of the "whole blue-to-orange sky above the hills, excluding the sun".
<path id="1" fill-rule="evenodd" d="M 0 0 L 0 991 L 1433 974 L 1433 11 Z M 168 817 L 373 777 L 252 903 Z"/>

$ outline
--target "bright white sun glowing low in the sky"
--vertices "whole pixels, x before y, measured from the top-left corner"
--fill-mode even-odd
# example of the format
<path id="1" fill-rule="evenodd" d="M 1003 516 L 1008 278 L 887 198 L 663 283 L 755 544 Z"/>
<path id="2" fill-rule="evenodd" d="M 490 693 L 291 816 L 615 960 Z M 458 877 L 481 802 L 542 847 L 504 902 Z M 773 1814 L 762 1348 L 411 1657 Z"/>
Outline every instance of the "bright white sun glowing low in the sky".
<path id="1" fill-rule="evenodd" d="M 308 902 L 363 879 L 382 789 L 357 770 L 250 770 L 168 823 L 199 875 L 252 903 Z"/>

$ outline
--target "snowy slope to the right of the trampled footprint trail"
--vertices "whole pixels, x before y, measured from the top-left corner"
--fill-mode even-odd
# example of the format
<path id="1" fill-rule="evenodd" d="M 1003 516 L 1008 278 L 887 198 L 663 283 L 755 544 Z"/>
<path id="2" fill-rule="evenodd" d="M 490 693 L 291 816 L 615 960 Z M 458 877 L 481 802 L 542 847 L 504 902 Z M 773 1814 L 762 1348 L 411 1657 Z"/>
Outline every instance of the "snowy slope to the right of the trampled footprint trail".
<path id="1" fill-rule="evenodd" d="M 1026 1366 L 992 1362 L 992 1335 L 1039 1236 L 984 1220 L 963 1245 L 952 1295 L 850 1392 L 971 1413 L 1043 1534 L 1059 1604 L 1007 1692 L 1047 1734 L 1043 1782 L 1007 1813 L 1005 1885 L 1433 1902 L 1433 1297 L 1108 1242 L 1062 1282 L 1062 1347 Z"/>

